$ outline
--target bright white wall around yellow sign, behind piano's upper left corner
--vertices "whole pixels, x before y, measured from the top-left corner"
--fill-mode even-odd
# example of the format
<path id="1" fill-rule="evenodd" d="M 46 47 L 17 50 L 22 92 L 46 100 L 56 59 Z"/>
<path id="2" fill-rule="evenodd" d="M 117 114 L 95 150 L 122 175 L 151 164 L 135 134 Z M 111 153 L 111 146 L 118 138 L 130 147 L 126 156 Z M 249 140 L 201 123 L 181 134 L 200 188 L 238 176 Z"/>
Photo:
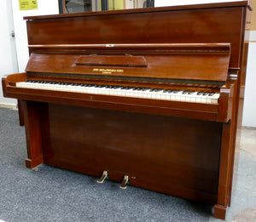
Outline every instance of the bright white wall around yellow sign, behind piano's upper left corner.
<path id="1" fill-rule="evenodd" d="M 2 0 L 1 0 L 2 1 Z M 23 16 L 59 14 L 58 0 L 38 0 L 38 9 L 20 11 L 19 1 L 12 0 L 15 23 L 15 38 L 19 71 L 25 71 L 28 60 L 28 48 L 26 37 L 26 20 Z"/>

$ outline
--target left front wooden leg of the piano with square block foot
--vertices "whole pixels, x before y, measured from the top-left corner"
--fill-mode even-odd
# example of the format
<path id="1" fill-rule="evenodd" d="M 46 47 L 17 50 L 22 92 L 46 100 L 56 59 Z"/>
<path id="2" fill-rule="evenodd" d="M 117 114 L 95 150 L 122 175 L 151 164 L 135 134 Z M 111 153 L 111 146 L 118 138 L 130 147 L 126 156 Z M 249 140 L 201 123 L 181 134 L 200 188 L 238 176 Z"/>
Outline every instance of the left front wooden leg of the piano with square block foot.
<path id="1" fill-rule="evenodd" d="M 36 168 L 43 163 L 40 111 L 42 105 L 33 101 L 21 100 L 26 129 L 26 168 Z"/>

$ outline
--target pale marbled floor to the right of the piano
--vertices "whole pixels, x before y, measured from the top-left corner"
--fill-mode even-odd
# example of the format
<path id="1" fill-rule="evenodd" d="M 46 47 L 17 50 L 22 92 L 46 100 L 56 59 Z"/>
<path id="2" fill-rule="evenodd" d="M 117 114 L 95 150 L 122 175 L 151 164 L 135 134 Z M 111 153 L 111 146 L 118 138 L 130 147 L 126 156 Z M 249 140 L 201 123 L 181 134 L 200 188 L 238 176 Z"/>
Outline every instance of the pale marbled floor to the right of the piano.
<path id="1" fill-rule="evenodd" d="M 231 207 L 226 221 L 256 221 L 256 129 L 241 128 L 236 140 L 236 162 Z M 212 220 L 214 221 L 214 220 Z"/>

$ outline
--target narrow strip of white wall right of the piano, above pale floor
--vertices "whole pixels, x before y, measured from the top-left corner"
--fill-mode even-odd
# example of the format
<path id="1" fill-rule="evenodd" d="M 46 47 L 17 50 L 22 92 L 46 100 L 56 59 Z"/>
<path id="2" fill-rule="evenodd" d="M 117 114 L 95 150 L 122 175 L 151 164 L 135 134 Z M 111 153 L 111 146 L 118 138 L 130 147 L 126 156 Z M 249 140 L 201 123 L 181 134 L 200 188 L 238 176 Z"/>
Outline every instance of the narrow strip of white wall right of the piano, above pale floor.
<path id="1" fill-rule="evenodd" d="M 256 40 L 256 39 L 255 39 Z M 256 43 L 249 43 L 242 126 L 256 127 Z"/>

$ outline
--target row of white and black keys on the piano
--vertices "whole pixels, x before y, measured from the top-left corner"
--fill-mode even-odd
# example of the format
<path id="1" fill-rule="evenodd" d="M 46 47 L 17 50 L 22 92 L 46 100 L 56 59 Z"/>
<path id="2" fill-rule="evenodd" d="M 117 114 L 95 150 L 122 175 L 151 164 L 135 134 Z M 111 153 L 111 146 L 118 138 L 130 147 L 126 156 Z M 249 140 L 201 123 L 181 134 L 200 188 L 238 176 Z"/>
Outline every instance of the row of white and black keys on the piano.
<path id="1" fill-rule="evenodd" d="M 99 85 L 88 83 L 65 83 L 28 80 L 16 83 L 19 88 L 37 88 L 46 90 L 57 90 L 65 92 L 85 94 L 105 94 L 115 96 L 126 96 L 154 100 L 173 100 L 194 103 L 218 104 L 219 94 L 207 92 L 195 92 L 189 90 L 163 89 L 163 88 L 142 88 Z"/>

